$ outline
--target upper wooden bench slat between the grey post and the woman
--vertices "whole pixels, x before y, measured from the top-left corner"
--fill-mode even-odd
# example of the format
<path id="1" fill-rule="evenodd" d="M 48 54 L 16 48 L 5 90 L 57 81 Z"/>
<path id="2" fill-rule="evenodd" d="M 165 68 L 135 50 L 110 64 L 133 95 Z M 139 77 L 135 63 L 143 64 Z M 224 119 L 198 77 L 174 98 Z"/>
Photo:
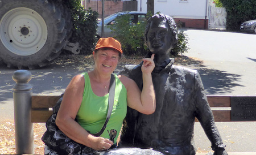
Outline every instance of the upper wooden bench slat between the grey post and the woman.
<path id="1" fill-rule="evenodd" d="M 32 109 L 53 107 L 60 96 L 32 96 Z"/>

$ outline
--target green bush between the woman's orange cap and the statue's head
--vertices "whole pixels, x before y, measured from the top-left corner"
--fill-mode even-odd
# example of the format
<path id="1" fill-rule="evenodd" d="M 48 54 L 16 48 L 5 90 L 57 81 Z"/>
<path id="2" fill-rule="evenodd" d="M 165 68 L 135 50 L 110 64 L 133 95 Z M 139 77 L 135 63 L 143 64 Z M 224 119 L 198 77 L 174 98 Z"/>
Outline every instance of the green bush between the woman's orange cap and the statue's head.
<path id="1" fill-rule="evenodd" d="M 146 22 L 131 23 L 129 14 L 118 16 L 115 24 L 110 25 L 114 38 L 121 42 L 124 55 L 144 55 L 147 46 L 144 45 L 144 30 Z"/>

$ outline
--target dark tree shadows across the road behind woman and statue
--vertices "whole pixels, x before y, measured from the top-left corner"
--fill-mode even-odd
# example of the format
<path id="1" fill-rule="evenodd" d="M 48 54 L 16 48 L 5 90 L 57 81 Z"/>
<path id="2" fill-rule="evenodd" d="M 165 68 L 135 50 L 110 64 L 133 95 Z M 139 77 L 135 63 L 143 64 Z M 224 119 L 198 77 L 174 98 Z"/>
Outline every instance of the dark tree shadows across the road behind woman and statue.
<path id="1" fill-rule="evenodd" d="M 121 70 L 124 63 L 120 63 L 115 72 Z M 127 62 L 126 64 L 130 63 Z M 175 64 L 198 70 L 207 94 L 228 93 L 232 92 L 234 87 L 243 87 L 243 85 L 238 84 L 241 75 L 208 68 L 203 65 L 203 61 L 181 56 L 175 59 Z M 59 95 L 65 91 L 73 76 L 92 70 L 92 68 L 92 57 L 61 57 L 46 67 L 30 70 L 32 79 L 29 83 L 33 87 L 33 94 Z M 16 68 L 7 68 L 5 64 L 0 62 L 0 104 L 6 104 L 5 101 L 13 99 L 15 82 L 12 75 L 16 70 Z"/>

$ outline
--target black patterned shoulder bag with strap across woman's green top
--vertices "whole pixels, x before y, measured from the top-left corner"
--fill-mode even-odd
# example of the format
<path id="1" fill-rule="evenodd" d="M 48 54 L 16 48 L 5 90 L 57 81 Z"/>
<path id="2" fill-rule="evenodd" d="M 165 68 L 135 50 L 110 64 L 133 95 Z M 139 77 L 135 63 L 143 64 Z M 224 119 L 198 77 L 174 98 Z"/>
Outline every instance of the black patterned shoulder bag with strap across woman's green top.
<path id="1" fill-rule="evenodd" d="M 104 132 L 106 128 L 106 124 L 109 121 L 110 115 L 112 113 L 113 104 L 114 104 L 114 92 L 115 92 L 115 77 L 114 74 L 111 74 L 110 79 L 110 88 L 109 88 L 109 106 L 108 106 L 108 114 L 105 120 L 104 125 L 101 130 L 93 134 L 93 136 L 100 136 L 102 132 Z M 59 154 L 82 154 L 82 153 L 92 153 L 95 150 L 92 148 L 86 147 L 85 145 L 79 144 L 76 141 L 73 141 L 68 136 L 66 136 L 55 123 L 57 111 L 59 110 L 61 101 L 63 99 L 63 94 L 57 104 L 53 107 L 53 114 L 46 122 L 46 132 L 42 137 L 42 141 L 47 145 L 49 149 L 59 153 Z"/>

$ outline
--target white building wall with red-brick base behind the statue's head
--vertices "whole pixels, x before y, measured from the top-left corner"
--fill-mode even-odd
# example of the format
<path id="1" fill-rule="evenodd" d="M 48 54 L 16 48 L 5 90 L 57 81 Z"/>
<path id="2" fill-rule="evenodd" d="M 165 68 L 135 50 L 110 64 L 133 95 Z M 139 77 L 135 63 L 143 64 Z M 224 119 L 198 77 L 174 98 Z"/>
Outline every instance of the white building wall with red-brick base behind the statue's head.
<path id="1" fill-rule="evenodd" d="M 137 0 L 138 11 L 147 12 L 147 0 Z M 208 29 L 208 0 L 155 0 L 155 12 L 175 19 L 177 25 L 185 28 Z M 178 23 L 179 22 L 179 23 Z"/>

